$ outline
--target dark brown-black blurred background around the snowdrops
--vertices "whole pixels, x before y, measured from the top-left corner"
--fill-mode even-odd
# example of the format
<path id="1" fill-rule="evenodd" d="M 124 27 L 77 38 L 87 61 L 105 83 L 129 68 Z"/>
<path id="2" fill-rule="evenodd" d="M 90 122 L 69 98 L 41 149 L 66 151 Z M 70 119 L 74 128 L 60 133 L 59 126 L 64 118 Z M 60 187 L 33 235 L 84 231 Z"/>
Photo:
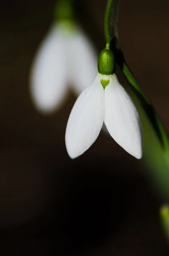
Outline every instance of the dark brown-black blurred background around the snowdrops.
<path id="1" fill-rule="evenodd" d="M 29 70 L 54 0 L 0 4 L 0 255 L 166 256 L 163 199 L 143 160 L 101 132 L 81 157 L 66 152 L 72 95 L 42 116 L 29 97 Z M 81 0 L 81 26 L 105 46 L 106 0 Z M 121 0 L 119 37 L 129 67 L 169 128 L 169 1 Z"/>

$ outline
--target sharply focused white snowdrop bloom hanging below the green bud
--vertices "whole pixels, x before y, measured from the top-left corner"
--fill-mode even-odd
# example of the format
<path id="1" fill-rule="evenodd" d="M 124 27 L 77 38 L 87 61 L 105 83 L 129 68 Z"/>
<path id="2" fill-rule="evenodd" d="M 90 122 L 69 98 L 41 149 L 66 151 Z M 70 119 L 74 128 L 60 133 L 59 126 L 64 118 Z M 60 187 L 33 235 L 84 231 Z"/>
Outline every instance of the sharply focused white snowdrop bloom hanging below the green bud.
<path id="1" fill-rule="evenodd" d="M 101 81 L 107 81 L 105 89 Z M 78 97 L 66 127 L 66 148 L 71 158 L 83 154 L 97 139 L 103 122 L 113 139 L 129 154 L 142 157 L 142 129 L 132 99 L 115 74 L 97 73 Z"/>

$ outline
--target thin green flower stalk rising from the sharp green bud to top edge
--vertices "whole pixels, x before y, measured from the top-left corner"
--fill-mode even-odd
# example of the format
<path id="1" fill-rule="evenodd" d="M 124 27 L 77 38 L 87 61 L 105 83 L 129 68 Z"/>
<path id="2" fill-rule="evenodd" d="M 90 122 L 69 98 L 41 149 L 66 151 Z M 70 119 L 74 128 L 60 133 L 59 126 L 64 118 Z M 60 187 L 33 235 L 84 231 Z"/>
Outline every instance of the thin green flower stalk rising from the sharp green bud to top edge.
<path id="1" fill-rule="evenodd" d="M 106 48 L 109 48 L 114 36 L 118 38 L 117 32 L 117 17 L 118 17 L 118 3 L 119 0 L 108 0 L 106 5 L 106 12 L 104 18 L 104 33 L 106 39 Z M 115 24 L 115 30 L 114 30 Z"/>

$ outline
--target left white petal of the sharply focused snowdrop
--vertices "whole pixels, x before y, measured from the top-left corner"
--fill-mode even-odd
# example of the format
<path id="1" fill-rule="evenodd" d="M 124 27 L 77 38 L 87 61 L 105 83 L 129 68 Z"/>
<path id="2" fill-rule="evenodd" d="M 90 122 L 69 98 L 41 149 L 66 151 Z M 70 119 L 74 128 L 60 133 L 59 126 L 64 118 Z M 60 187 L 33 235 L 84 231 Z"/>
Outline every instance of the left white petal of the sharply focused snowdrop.
<path id="1" fill-rule="evenodd" d="M 66 148 L 71 158 L 83 154 L 97 139 L 104 121 L 105 96 L 97 74 L 78 97 L 66 127 Z"/>

